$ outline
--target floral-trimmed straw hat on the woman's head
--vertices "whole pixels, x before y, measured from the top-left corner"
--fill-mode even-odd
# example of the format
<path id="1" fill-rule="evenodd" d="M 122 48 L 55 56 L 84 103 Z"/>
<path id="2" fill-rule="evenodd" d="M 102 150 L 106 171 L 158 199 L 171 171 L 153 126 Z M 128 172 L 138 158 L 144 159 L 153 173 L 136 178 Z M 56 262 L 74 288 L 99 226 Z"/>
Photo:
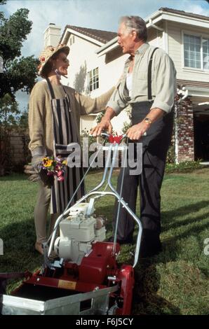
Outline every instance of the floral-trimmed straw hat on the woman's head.
<path id="1" fill-rule="evenodd" d="M 65 54 L 68 55 L 69 47 L 67 45 L 62 45 L 62 43 L 60 43 L 56 47 L 53 47 L 52 45 L 48 45 L 46 46 L 46 48 L 44 48 L 44 50 L 41 52 L 41 55 L 39 56 L 39 61 L 40 61 L 40 64 L 38 66 L 39 76 L 42 76 L 43 68 L 48 62 L 48 59 L 50 59 L 53 55 L 55 55 L 56 52 L 61 52 L 61 51 L 65 52 Z"/>

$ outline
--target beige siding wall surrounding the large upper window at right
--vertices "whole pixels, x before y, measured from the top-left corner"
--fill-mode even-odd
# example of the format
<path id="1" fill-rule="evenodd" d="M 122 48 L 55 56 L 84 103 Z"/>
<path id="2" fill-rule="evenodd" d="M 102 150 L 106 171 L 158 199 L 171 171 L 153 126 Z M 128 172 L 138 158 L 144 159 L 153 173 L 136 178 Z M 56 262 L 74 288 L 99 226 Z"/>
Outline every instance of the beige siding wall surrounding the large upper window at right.
<path id="1" fill-rule="evenodd" d="M 209 31 L 200 27 L 188 27 L 188 25 L 168 22 L 168 52 L 173 59 L 177 70 L 177 78 L 183 80 L 200 80 L 208 82 L 209 71 L 184 68 L 184 57 L 182 47 L 182 31 L 188 34 L 204 34 L 209 38 Z"/>

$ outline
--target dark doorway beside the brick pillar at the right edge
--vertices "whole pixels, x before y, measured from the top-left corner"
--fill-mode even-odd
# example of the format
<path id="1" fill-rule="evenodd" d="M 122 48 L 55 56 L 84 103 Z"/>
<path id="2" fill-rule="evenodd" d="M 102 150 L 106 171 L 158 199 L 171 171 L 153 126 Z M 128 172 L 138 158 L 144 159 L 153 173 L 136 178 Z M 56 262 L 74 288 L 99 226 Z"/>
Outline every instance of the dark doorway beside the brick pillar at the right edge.
<path id="1" fill-rule="evenodd" d="M 209 113 L 194 113 L 194 160 L 209 160 Z"/>

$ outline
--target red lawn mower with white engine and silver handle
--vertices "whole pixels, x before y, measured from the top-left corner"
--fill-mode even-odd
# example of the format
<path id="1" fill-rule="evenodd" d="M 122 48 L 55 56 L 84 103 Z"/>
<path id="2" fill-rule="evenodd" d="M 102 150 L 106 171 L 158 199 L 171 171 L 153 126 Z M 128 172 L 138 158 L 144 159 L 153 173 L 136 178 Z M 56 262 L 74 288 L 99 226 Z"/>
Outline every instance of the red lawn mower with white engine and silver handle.
<path id="1" fill-rule="evenodd" d="M 122 150 L 127 154 L 128 146 L 120 144 L 126 135 L 102 135 L 109 141 L 108 146 L 101 146 L 103 151 L 107 151 L 102 181 L 72 207 L 70 204 L 74 196 L 69 201 L 55 223 L 50 244 L 43 244 L 44 261 L 41 269 L 34 274 L 21 274 L 24 279 L 11 295 L 0 291 L 1 314 L 130 314 L 134 267 L 140 252 L 142 225 L 112 186 L 112 173 L 118 151 Z M 100 149 L 97 152 L 99 151 Z M 96 156 L 97 154 L 95 158 Z M 100 191 L 106 181 L 109 191 Z M 119 266 L 117 257 L 120 245 L 116 242 L 116 232 L 114 242 L 104 241 L 104 218 L 95 216 L 94 204 L 105 195 L 111 195 L 119 202 L 117 221 L 120 207 L 123 207 L 138 225 L 133 266 Z M 59 236 L 56 233 L 58 228 Z M 52 253 L 56 256 L 53 259 L 50 257 Z M 5 278 L 6 274 L 0 274 L 1 281 Z"/>

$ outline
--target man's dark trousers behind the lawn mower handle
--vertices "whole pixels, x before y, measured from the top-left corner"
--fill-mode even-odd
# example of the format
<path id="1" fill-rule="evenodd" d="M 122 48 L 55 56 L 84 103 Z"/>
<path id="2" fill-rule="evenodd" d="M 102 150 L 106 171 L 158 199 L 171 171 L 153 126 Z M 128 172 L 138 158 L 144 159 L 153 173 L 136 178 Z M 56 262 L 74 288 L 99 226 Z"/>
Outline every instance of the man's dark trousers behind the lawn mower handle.
<path id="1" fill-rule="evenodd" d="M 140 123 L 149 113 L 151 104 L 142 102 L 135 104 L 132 111 L 132 123 Z M 165 171 L 166 155 L 170 145 L 173 130 L 173 112 L 166 114 L 147 130 L 147 136 L 142 137 L 142 173 L 130 175 L 130 168 L 125 168 L 122 197 L 128 203 L 128 207 L 136 211 L 137 188 L 140 187 L 140 220 L 142 221 L 142 247 L 149 248 L 150 244 L 155 248 L 159 245 L 161 232 L 161 185 Z M 132 168 L 133 169 L 133 168 Z M 117 191 L 121 191 L 121 179 L 123 168 L 119 174 Z M 113 229 L 116 227 L 116 215 L 118 202 L 115 204 Z M 119 213 L 119 225 L 117 239 L 131 241 L 135 221 L 122 207 Z M 145 241 L 146 240 L 146 241 Z M 146 246 L 145 246 L 146 244 Z"/>

